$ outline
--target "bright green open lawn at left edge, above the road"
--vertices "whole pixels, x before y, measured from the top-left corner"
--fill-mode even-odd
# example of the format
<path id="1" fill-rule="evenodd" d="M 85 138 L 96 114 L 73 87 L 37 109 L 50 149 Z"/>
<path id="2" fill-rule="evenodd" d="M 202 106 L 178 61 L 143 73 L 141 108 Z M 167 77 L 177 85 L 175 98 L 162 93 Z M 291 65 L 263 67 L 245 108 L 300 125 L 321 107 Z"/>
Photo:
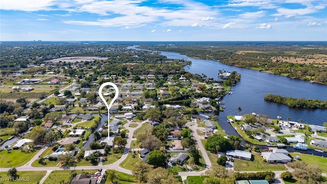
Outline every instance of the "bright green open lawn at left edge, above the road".
<path id="1" fill-rule="evenodd" d="M 34 150 L 33 152 L 24 153 L 20 150 L 7 150 L 0 151 L 0 167 L 9 168 L 9 167 L 19 167 L 33 158 L 33 156 L 39 150 Z"/>

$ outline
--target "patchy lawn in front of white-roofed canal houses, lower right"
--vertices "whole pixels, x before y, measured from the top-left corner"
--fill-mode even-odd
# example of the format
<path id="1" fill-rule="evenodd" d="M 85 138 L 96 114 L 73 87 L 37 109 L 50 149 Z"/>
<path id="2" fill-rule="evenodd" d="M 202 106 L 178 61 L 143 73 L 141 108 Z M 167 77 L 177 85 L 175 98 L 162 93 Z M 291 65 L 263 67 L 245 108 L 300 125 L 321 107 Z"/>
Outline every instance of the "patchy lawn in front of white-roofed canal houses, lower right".
<path id="1" fill-rule="evenodd" d="M 252 159 L 234 159 L 234 171 L 285 171 L 283 164 L 269 164 L 264 162 L 260 153 L 252 151 Z M 252 161 L 253 160 L 253 161 Z"/>

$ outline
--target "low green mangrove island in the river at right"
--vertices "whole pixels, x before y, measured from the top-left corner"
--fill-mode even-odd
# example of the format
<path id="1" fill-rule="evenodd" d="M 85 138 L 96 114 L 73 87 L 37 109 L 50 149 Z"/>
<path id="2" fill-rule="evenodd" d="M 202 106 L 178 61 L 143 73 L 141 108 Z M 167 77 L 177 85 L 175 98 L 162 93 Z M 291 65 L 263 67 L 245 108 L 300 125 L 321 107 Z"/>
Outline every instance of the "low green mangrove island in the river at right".
<path id="1" fill-rule="evenodd" d="M 264 99 L 269 102 L 286 104 L 291 108 L 327 108 L 327 101 L 322 101 L 318 99 L 303 99 L 303 98 L 292 98 L 292 97 L 282 97 L 280 95 L 267 94 Z"/>

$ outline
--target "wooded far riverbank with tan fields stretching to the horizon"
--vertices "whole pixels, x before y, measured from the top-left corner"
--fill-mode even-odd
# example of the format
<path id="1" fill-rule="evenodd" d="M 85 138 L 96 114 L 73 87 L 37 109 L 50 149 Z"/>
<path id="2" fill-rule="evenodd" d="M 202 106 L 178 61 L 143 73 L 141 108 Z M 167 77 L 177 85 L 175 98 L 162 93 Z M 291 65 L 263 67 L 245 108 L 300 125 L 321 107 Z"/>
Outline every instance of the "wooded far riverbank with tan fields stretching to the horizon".
<path id="1" fill-rule="evenodd" d="M 200 45 L 200 47 L 199 47 Z M 188 57 L 209 59 L 327 85 L 327 50 L 323 42 L 194 42 L 147 43 L 138 48 L 176 52 Z"/>

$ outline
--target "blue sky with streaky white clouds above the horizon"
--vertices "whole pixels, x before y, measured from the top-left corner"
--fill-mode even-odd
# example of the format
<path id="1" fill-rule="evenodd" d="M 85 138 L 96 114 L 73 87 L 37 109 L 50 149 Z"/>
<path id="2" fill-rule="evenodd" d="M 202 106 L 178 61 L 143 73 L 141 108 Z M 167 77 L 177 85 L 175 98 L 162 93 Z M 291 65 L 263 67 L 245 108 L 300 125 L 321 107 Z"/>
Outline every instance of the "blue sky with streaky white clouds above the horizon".
<path id="1" fill-rule="evenodd" d="M 327 41 L 327 1 L 2 0 L 1 41 Z"/>

